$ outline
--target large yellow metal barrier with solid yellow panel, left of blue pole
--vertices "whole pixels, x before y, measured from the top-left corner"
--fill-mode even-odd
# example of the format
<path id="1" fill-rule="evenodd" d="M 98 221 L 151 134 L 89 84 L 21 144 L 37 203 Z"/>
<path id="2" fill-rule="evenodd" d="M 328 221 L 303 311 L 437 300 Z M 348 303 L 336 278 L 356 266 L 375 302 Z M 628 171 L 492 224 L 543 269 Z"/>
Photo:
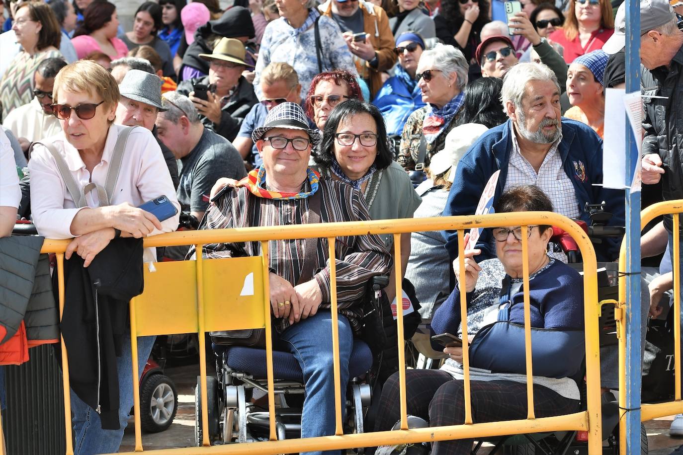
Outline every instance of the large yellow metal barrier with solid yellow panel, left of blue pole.
<path id="1" fill-rule="evenodd" d="M 529 265 L 527 229 L 532 224 L 558 226 L 571 235 L 579 245 L 584 266 L 584 304 L 585 304 L 585 346 L 587 377 L 587 411 L 556 417 L 535 418 L 533 413 L 533 375 L 531 369 L 531 328 L 529 325 Z M 335 238 L 348 235 L 393 234 L 395 246 L 395 265 L 400 269 L 400 234 L 413 231 L 458 230 L 460 248 L 460 279 L 464 282 L 464 230 L 495 226 L 522 226 L 522 257 L 524 261 L 524 306 L 525 306 L 525 345 L 527 350 L 527 400 L 529 405 L 526 420 L 490 422 L 474 424 L 472 421 L 471 400 L 469 396 L 469 349 L 466 337 L 464 345 L 464 390 L 465 424 L 408 430 L 406 416 L 406 378 L 403 340 L 399 337 L 400 372 L 400 413 L 401 430 L 370 432 L 344 435 L 342 428 L 342 409 L 339 403 L 339 334 L 337 332 L 337 295 L 335 283 L 335 261 L 330 261 L 331 275 L 331 313 L 333 315 L 332 334 L 334 349 L 335 375 L 335 421 L 334 436 L 290 439 L 277 441 L 275 419 L 270 419 L 270 441 L 247 444 L 217 445 L 212 447 L 182 447 L 169 450 L 155 450 L 158 454 L 281 454 L 307 452 L 312 450 L 335 450 L 352 447 L 370 447 L 422 441 L 445 441 L 450 439 L 477 439 L 503 435 L 516 435 L 531 432 L 552 432 L 557 430 L 585 430 L 588 432 L 589 453 L 599 453 L 601 449 L 600 414 L 600 353 L 598 349 L 598 287 L 596 278 L 596 255 L 584 231 L 572 220 L 548 212 L 516 212 L 491 214 L 486 216 L 459 216 L 447 218 L 421 219 L 416 224 L 413 219 L 379 220 L 370 222 L 304 224 L 300 226 L 254 227 L 241 229 L 221 229 L 214 231 L 182 231 L 148 237 L 145 247 L 197 246 L 197 261 L 177 263 L 156 263 L 155 271 L 145 270 L 145 291 L 130 302 L 130 332 L 133 354 L 134 402 L 135 402 L 135 452 L 143 450 L 140 435 L 139 384 L 137 371 L 137 336 L 189 333 L 199 334 L 199 367 L 201 374 L 201 415 L 202 428 L 208 427 L 206 397 L 206 349 L 204 334 L 212 330 L 238 328 L 266 328 L 266 355 L 268 377 L 268 409 L 275 415 L 275 396 L 273 393 L 273 352 L 270 348 L 272 333 L 270 328 L 270 303 L 268 301 L 268 241 L 281 239 L 326 238 L 329 254 L 335 254 Z M 201 247 L 205 244 L 222 242 L 260 241 L 262 256 L 251 258 L 202 259 Z M 64 309 L 64 250 L 68 241 L 46 240 L 42 252 L 56 252 L 59 274 L 59 308 Z M 196 279 L 191 279 L 195 276 Z M 251 288 L 249 287 L 251 282 Z M 240 283 L 243 283 L 240 287 Z M 234 289 L 231 289 L 234 288 Z M 238 289 L 249 292 L 238 292 Z M 396 295 L 402 295 L 400 276 L 395 280 Z M 461 293 L 462 329 L 467 333 L 465 294 Z M 259 310 L 259 308 L 261 310 Z M 152 317 L 153 316 L 153 317 Z M 403 312 L 397 311 L 398 333 L 403 333 Z M 64 344 L 62 344 L 62 364 L 64 371 L 64 402 L 66 422 L 71 421 L 70 394 L 68 383 L 68 364 Z M 66 425 L 67 455 L 73 453 L 71 428 Z M 204 446 L 209 445 L 208 434 L 203 432 Z"/>

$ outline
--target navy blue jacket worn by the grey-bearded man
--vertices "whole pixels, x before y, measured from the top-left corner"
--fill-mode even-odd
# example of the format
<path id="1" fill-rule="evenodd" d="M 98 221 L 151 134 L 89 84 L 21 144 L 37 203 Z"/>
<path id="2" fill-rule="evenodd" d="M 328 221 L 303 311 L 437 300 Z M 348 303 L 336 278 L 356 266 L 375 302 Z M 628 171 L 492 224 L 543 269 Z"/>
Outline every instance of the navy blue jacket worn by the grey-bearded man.
<path id="1" fill-rule="evenodd" d="M 469 148 L 458 162 L 456 177 L 448 195 L 443 216 L 473 215 L 488 179 L 500 169 L 498 186 L 494 195 L 497 203 L 507 179 L 507 164 L 512 150 L 512 121 L 508 120 L 488 130 Z M 602 184 L 602 139 L 587 125 L 562 118 L 562 141 L 557 150 L 560 153 L 565 173 L 574 184 L 576 201 L 579 202 L 581 219 L 590 224 L 586 203 L 605 202 L 605 209 L 613 214 L 611 226 L 624 226 L 624 190 L 610 190 L 594 184 Z M 446 249 L 451 261 L 458 255 L 456 231 L 444 231 Z M 490 248 L 490 231 L 484 229 L 477 241 L 482 254 L 477 261 L 495 257 Z M 595 245 L 598 261 L 614 261 L 619 257 L 621 239 L 607 239 Z"/>

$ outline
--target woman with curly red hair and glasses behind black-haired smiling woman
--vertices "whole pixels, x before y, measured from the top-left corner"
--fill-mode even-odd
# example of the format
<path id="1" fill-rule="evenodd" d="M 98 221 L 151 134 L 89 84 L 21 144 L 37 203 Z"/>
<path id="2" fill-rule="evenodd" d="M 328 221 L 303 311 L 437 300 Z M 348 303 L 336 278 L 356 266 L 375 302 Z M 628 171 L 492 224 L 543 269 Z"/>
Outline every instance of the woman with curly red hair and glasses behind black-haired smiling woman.
<path id="1" fill-rule="evenodd" d="M 322 131 L 335 106 L 352 98 L 364 101 L 361 86 L 354 74 L 346 70 L 320 73 L 311 81 L 304 111 L 316 123 L 318 130 Z"/>

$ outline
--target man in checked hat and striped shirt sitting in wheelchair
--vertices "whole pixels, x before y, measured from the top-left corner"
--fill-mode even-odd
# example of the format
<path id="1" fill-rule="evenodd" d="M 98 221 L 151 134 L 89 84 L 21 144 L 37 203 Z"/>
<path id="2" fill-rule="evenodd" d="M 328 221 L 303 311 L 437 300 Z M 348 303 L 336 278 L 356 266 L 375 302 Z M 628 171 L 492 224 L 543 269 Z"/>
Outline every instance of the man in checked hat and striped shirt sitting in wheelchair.
<path id="1" fill-rule="evenodd" d="M 320 132 L 309 129 L 298 104 L 285 102 L 273 108 L 252 138 L 263 164 L 214 197 L 215 202 L 205 216 L 207 229 L 370 220 L 360 192 L 333 179 L 321 180 L 308 167 L 311 147 L 320 142 Z M 270 241 L 269 250 L 275 347 L 284 351 L 274 355 L 275 378 L 280 380 L 277 387 L 281 387 L 278 396 L 284 396 L 282 390 L 301 390 L 303 383 L 301 437 L 334 435 L 331 282 L 326 239 Z M 261 243 L 252 241 L 207 245 L 205 254 L 210 258 L 260 256 L 262 251 Z M 338 237 L 335 258 L 343 405 L 350 377 L 364 373 L 372 365 L 370 350 L 354 341 L 354 335 L 361 330 L 361 302 L 367 283 L 376 276 L 389 276 L 391 256 L 377 235 L 359 235 Z M 214 338 L 214 342 L 220 342 L 219 338 Z M 263 389 L 263 382 L 259 382 L 265 376 L 263 349 L 229 347 L 217 354 L 221 358 L 219 370 L 224 386 L 245 383 Z M 358 370 L 361 365 L 363 371 Z M 207 387 L 215 385 L 213 382 Z M 225 408 L 236 409 L 237 415 L 233 417 L 238 421 L 237 439 L 245 441 L 246 430 L 240 424 L 259 423 L 245 420 L 245 389 L 224 387 L 223 392 L 219 395 L 225 399 Z M 217 409 L 220 407 L 214 407 L 214 411 Z M 230 418 L 225 419 L 223 439 L 229 439 L 226 434 L 231 430 Z M 261 418 L 267 424 L 268 415 Z M 285 431 L 279 434 L 284 437 Z"/>

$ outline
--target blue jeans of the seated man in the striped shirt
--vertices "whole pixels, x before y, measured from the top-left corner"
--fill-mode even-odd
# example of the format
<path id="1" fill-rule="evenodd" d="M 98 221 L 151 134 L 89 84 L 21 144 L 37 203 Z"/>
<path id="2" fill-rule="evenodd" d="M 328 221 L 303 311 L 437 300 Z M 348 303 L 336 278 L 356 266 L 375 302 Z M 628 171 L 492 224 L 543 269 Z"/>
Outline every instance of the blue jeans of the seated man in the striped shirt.
<path id="1" fill-rule="evenodd" d="M 348 362 L 353 349 L 353 332 L 346 317 L 339 314 L 339 372 L 342 387 L 342 420 L 346 414 Z M 305 398 L 301 415 L 301 437 L 335 434 L 335 378 L 332 355 L 332 314 L 318 312 L 288 327 L 280 339 L 289 344 L 290 352 L 301 365 L 305 382 Z M 308 452 L 322 454 L 322 452 Z M 326 454 L 340 454 L 330 450 Z"/>

